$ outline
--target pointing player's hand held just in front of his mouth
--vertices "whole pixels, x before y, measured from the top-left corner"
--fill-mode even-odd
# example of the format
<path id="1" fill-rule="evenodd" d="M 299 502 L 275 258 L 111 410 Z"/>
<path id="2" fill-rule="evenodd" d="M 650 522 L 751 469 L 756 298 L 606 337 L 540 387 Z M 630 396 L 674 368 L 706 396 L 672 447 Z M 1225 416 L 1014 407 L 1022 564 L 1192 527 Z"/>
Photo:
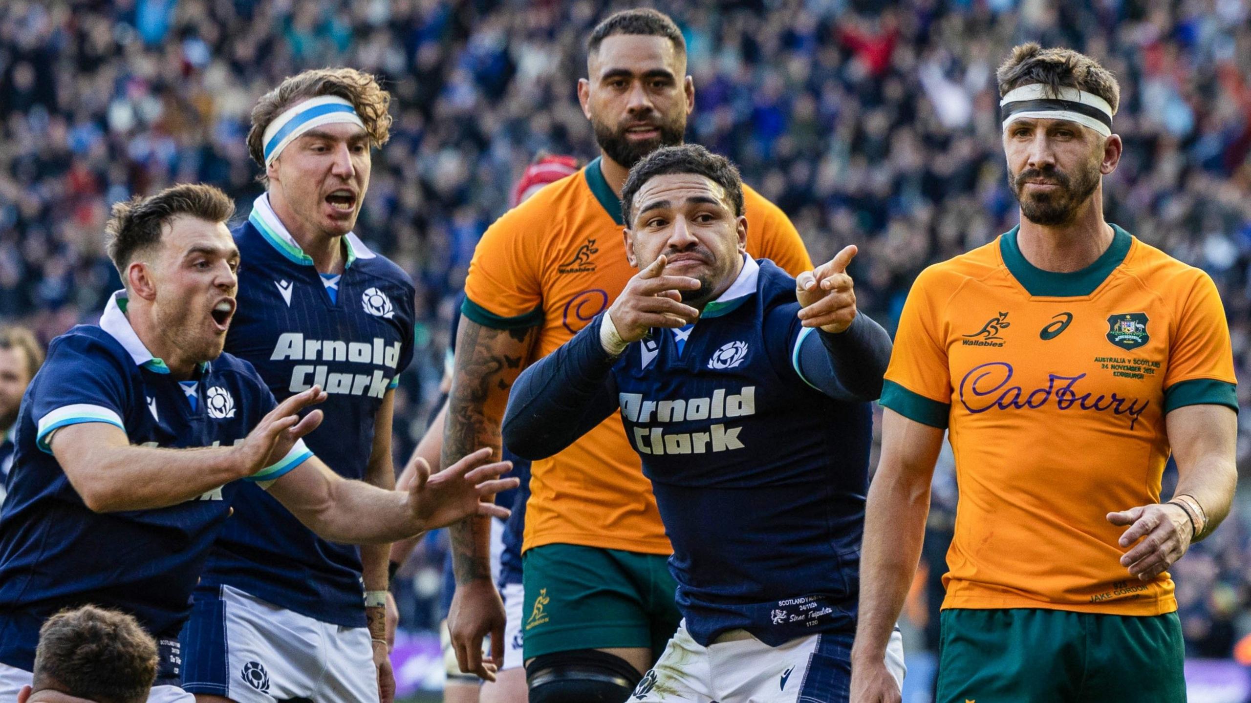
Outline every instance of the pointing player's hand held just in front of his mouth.
<path id="1" fill-rule="evenodd" d="M 656 326 L 679 328 L 699 318 L 699 310 L 682 303 L 682 291 L 699 290 L 699 280 L 663 275 L 667 261 L 662 254 L 634 274 L 608 309 L 623 341 L 638 341 Z"/>

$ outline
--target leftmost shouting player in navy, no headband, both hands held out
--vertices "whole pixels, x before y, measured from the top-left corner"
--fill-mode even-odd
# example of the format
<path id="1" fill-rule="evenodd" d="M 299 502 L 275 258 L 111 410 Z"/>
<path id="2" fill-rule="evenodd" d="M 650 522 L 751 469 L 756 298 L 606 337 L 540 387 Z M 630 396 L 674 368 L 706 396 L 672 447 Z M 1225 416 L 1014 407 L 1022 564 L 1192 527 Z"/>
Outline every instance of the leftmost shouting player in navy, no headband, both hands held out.
<path id="1" fill-rule="evenodd" d="M 387 543 L 470 514 L 517 485 L 489 452 L 422 475 L 409 492 L 345 480 L 304 445 L 317 385 L 274 400 L 251 364 L 221 352 L 239 249 L 220 190 L 180 185 L 119 204 L 109 255 L 125 290 L 99 325 L 49 345 L 18 420 L 0 512 L 0 700 L 31 683 L 41 624 L 86 603 L 134 615 L 158 640 L 149 700 L 190 703 L 178 634 L 243 480 L 319 535 Z M 236 515 L 238 518 L 238 515 Z M 253 667 L 249 680 L 268 684 Z"/>

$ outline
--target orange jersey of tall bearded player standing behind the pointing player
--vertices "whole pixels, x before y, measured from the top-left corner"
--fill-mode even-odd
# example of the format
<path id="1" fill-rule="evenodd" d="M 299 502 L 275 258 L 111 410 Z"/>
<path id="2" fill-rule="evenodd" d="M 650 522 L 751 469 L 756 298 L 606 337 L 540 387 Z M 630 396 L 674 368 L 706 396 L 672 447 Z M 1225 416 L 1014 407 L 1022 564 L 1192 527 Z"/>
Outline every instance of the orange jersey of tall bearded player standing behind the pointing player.
<path id="1" fill-rule="evenodd" d="M 803 241 L 782 210 L 746 185 L 743 200 L 748 253 L 792 275 L 811 270 Z M 469 264 L 462 311 L 495 329 L 539 326 L 537 359 L 608 309 L 636 273 L 626 260 L 620 201 L 595 159 L 487 230 Z M 672 552 L 619 415 L 532 464 L 524 549 L 553 543 Z"/>

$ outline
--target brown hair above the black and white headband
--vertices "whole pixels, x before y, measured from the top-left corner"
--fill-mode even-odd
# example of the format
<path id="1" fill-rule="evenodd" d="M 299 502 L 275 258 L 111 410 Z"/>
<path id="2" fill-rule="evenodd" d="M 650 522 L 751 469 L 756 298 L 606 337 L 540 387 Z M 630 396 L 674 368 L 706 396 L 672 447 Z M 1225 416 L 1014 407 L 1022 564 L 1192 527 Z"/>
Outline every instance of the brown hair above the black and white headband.
<path id="1" fill-rule="evenodd" d="M 1090 56 L 1072 49 L 1043 49 L 1031 41 L 1012 48 L 1012 53 L 995 73 L 1000 83 L 1000 98 L 1011 90 L 1032 83 L 1041 83 L 1058 93 L 1060 88 L 1076 88 L 1098 95 L 1112 108 L 1121 103 L 1121 85 L 1112 71 Z"/>

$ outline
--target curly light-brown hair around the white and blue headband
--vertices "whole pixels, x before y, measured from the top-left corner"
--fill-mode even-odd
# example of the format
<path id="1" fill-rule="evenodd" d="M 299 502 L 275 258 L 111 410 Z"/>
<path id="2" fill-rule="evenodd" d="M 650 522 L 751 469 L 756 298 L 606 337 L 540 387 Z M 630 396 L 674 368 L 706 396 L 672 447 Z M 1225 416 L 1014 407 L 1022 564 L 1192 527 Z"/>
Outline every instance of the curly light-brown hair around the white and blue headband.
<path id="1" fill-rule="evenodd" d="M 261 168 L 260 180 L 266 180 L 264 134 L 269 123 L 300 100 L 319 95 L 343 98 L 357 110 L 365 124 L 372 146 L 382 146 L 390 139 L 390 93 L 383 90 L 378 79 L 357 69 L 310 69 L 289 76 L 278 88 L 260 96 L 251 109 L 251 129 L 248 130 L 248 153 Z"/>

